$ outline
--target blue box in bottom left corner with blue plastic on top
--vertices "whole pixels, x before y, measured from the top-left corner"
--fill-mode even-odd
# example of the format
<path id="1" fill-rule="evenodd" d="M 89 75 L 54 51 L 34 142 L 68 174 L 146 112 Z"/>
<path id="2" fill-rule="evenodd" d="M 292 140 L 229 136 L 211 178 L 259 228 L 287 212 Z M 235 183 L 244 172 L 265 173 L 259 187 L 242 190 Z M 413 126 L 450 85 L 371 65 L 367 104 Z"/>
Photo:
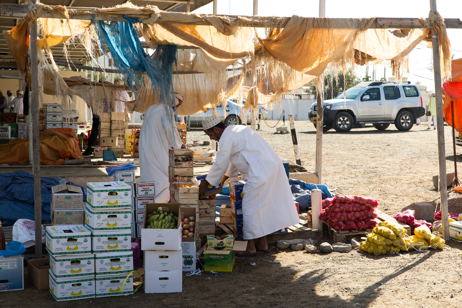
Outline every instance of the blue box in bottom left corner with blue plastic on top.
<path id="1" fill-rule="evenodd" d="M 0 259 L 0 291 L 24 290 L 22 254 Z"/>

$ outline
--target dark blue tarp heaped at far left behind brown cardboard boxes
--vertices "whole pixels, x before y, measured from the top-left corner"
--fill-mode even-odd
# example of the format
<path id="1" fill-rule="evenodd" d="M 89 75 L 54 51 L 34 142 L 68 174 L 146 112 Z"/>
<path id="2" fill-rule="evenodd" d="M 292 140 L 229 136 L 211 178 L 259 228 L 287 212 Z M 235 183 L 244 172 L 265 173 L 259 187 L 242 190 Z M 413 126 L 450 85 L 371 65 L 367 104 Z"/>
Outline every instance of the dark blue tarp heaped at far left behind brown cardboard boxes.
<path id="1" fill-rule="evenodd" d="M 42 177 L 42 222 L 50 220 L 51 187 L 66 183 L 57 177 Z M 69 182 L 70 185 L 79 186 Z M 86 202 L 86 190 L 84 202 Z M 16 171 L 0 174 L 0 220 L 2 225 L 13 225 L 20 218 L 34 219 L 34 175 Z"/>

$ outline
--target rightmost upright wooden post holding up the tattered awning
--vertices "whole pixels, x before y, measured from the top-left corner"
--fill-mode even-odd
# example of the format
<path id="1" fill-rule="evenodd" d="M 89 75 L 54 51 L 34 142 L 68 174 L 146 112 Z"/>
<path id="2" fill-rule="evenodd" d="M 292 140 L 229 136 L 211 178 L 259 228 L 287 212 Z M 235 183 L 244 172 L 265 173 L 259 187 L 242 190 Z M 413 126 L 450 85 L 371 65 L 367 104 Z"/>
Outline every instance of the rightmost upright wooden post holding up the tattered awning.
<path id="1" fill-rule="evenodd" d="M 430 0 L 430 11 L 436 13 L 436 0 Z M 436 116 L 438 130 L 439 187 L 441 198 L 441 220 L 444 241 L 449 241 L 448 186 L 446 178 L 446 151 L 444 149 L 443 95 L 441 92 L 441 67 L 438 34 L 432 29 L 433 72 L 435 76 Z"/>

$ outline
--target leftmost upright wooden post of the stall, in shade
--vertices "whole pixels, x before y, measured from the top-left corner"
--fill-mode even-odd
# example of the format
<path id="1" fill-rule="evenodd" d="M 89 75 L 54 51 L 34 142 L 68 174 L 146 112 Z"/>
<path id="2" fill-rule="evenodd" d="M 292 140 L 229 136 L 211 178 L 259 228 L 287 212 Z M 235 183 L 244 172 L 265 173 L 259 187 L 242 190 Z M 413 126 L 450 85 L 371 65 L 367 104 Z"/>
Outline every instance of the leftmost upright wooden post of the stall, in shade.
<path id="1" fill-rule="evenodd" d="M 39 3 L 40 1 L 35 1 Z M 34 151 L 34 208 L 35 208 L 35 258 L 42 259 L 42 186 L 40 179 L 40 135 L 38 130 L 38 112 L 42 93 L 38 87 L 38 48 L 37 48 L 37 22 L 30 24 L 30 77 L 31 87 L 35 95 L 31 96 L 32 111 L 32 149 Z"/>

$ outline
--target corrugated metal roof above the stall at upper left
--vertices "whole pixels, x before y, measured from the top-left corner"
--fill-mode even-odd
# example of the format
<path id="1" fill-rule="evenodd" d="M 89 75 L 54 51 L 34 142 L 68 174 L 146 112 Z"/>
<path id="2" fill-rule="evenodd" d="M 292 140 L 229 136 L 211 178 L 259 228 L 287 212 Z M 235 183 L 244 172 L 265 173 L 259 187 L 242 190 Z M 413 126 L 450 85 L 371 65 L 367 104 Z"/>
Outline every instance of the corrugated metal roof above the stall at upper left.
<path id="1" fill-rule="evenodd" d="M 2 3 L 10 3 L 10 4 L 18 4 L 24 3 L 27 0 L 2 0 Z M 196 8 L 204 6 L 213 0 L 195 0 L 194 4 L 190 4 L 190 10 L 193 11 Z M 116 6 L 127 2 L 126 0 L 111 0 L 111 1 L 102 1 L 102 0 L 42 0 L 40 1 L 43 4 L 49 6 L 74 6 L 74 7 L 108 7 L 108 6 Z M 159 2 L 155 0 L 131 0 L 131 2 L 136 6 L 158 6 L 159 9 L 164 11 L 175 11 L 175 12 L 186 12 L 186 4 L 181 4 L 174 2 Z M 18 21 L 17 21 L 18 20 Z M 0 69 L 16 69 L 16 63 L 10 62 L 13 59 L 10 51 L 8 50 L 8 46 L 6 45 L 5 39 L 3 38 L 2 31 L 3 30 L 11 30 L 18 22 L 21 22 L 21 19 L 14 19 L 14 18 L 1 18 L 0 17 Z M 64 45 L 60 44 L 51 48 L 53 52 L 53 57 L 55 59 L 66 60 L 66 56 L 64 55 L 63 51 Z M 79 44 L 71 45 L 68 47 L 70 60 L 73 62 L 80 62 L 85 63 L 86 56 L 85 56 L 85 49 Z M 7 62 L 5 62 L 7 61 Z"/>

